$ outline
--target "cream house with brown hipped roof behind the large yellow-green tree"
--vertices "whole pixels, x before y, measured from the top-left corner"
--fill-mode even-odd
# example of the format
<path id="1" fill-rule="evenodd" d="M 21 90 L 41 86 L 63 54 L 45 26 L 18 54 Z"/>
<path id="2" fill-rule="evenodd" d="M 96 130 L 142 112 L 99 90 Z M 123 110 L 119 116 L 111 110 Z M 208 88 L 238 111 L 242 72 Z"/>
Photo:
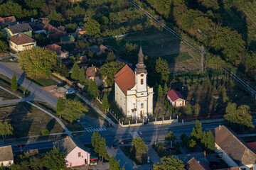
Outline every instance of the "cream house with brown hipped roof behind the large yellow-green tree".
<path id="1" fill-rule="evenodd" d="M 28 35 L 19 34 L 19 35 L 16 35 L 15 37 L 10 38 L 9 45 L 12 50 L 16 52 L 21 52 L 23 50 L 36 47 L 36 40 L 28 37 Z"/>

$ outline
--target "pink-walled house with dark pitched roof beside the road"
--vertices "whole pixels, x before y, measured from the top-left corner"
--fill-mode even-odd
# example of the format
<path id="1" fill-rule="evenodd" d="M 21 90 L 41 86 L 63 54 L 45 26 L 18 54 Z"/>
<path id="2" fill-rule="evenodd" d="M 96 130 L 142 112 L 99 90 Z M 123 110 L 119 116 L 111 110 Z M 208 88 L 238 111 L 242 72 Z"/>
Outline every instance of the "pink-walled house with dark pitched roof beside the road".
<path id="1" fill-rule="evenodd" d="M 53 146 L 59 148 L 60 152 L 65 153 L 65 164 L 67 167 L 90 164 L 90 152 L 88 149 L 82 143 L 75 141 L 69 136 L 53 142 Z"/>

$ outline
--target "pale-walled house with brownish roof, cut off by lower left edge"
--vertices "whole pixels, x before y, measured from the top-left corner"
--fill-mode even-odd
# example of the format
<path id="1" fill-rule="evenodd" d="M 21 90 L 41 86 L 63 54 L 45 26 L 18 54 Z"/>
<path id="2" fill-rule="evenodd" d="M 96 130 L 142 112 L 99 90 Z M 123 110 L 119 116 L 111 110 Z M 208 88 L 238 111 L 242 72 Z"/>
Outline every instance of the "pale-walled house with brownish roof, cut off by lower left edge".
<path id="1" fill-rule="evenodd" d="M 0 166 L 10 166 L 14 164 L 14 154 L 11 145 L 0 147 Z"/>

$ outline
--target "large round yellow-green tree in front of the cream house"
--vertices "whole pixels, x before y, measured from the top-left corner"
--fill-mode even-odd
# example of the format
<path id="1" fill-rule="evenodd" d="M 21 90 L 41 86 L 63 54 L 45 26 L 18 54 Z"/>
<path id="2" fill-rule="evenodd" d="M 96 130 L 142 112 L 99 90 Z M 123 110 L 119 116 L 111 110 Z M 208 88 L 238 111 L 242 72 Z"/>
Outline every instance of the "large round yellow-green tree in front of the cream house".
<path id="1" fill-rule="evenodd" d="M 44 74 L 46 69 L 53 69 L 57 64 L 56 52 L 43 47 L 33 47 L 18 54 L 18 62 L 28 76 Z"/>

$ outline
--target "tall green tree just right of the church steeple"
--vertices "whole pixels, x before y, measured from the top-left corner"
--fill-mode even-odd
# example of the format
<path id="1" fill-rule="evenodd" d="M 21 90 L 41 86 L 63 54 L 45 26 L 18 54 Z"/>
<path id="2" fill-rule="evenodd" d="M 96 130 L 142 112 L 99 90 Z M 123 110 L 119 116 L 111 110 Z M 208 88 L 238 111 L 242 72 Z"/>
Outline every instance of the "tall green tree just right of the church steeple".
<path id="1" fill-rule="evenodd" d="M 161 82 L 168 81 L 170 74 L 169 65 L 168 62 L 162 60 L 161 57 L 156 60 L 156 72 L 161 75 Z"/>

